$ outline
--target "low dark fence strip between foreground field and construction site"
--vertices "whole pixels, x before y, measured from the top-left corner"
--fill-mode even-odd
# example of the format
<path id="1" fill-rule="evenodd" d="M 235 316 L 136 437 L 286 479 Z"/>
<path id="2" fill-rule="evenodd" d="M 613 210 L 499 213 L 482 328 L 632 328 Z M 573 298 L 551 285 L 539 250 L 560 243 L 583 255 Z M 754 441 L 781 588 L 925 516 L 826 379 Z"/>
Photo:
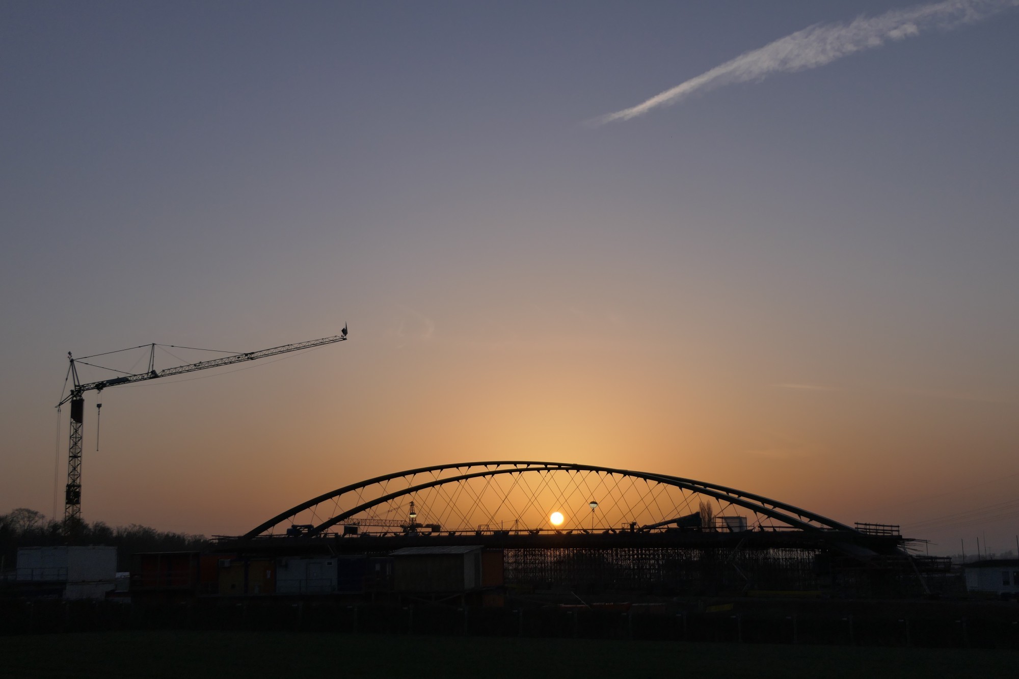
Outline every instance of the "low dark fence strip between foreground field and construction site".
<path id="1" fill-rule="evenodd" d="M 701 610 L 703 609 L 703 610 Z M 0 600 L 0 634 L 121 629 L 302 630 L 336 633 L 672 639 L 742 643 L 1019 648 L 1019 607 L 952 605 L 854 613 L 734 604 L 654 606 L 371 605 L 337 600 Z"/>

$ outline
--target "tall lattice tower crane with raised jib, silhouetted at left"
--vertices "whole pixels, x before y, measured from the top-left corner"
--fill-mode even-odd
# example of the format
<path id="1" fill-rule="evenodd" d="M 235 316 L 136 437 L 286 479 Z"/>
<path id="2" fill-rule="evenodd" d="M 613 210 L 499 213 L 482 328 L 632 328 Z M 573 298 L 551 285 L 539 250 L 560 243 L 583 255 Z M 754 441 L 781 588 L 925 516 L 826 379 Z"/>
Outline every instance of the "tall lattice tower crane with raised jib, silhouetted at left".
<path id="1" fill-rule="evenodd" d="M 289 352 L 301 351 L 302 349 L 312 349 L 314 347 L 322 347 L 324 345 L 331 345 L 336 342 L 343 342 L 346 340 L 346 325 L 343 325 L 343 329 L 340 330 L 339 334 L 334 334 L 330 337 L 322 337 L 321 340 L 309 340 L 308 342 L 299 342 L 292 345 L 283 345 L 282 347 L 273 347 L 271 349 L 263 349 L 257 352 L 247 352 L 244 354 L 234 354 L 231 356 L 224 356 L 222 358 L 211 359 L 208 361 L 199 361 L 198 363 L 189 363 L 187 365 L 179 365 L 175 368 L 165 368 L 163 370 L 157 371 L 155 368 L 155 357 L 156 357 L 156 345 L 150 345 L 151 352 L 149 354 L 149 369 L 145 372 L 139 372 L 135 374 L 125 374 L 119 377 L 111 377 L 110 379 L 101 379 L 95 382 L 82 383 L 77 378 L 77 366 L 75 365 L 75 359 L 71 356 L 70 352 L 67 352 L 67 360 L 70 362 L 68 367 L 68 375 L 72 379 L 73 385 L 70 391 L 64 397 L 60 403 L 57 404 L 57 408 L 60 408 L 65 403 L 70 402 L 70 445 L 67 451 L 67 486 L 64 491 L 64 531 L 69 531 L 71 524 L 75 521 L 79 521 L 82 517 L 82 430 L 84 427 L 85 420 L 85 393 L 86 391 L 102 391 L 107 386 L 120 386 L 121 384 L 132 384 L 135 382 L 141 382 L 147 379 L 157 379 L 159 377 L 170 377 L 172 375 L 182 375 L 185 372 L 195 372 L 196 370 L 206 370 L 207 368 L 218 368 L 224 365 L 231 365 L 233 363 L 240 363 L 243 361 L 257 361 L 258 359 L 268 358 L 269 356 L 276 356 L 278 354 L 287 354 Z M 142 345 L 145 347 L 146 345 Z M 140 349 L 136 347 L 136 349 Z M 111 352 L 113 353 L 113 352 Z M 86 357 L 91 358 L 91 357 Z M 77 361 L 83 362 L 82 359 Z M 86 364 L 91 365 L 91 364 Z M 97 406 L 98 408 L 99 406 Z"/>

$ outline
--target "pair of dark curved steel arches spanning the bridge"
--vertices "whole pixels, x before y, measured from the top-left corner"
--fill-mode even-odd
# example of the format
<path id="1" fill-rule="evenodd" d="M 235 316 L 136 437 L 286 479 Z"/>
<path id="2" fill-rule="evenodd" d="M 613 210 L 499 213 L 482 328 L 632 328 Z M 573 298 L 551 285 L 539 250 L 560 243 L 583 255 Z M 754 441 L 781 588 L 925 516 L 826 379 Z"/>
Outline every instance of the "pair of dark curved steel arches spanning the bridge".
<path id="1" fill-rule="evenodd" d="M 471 471 L 472 469 L 483 468 L 482 471 Z M 382 476 L 376 476 L 358 483 L 353 483 L 350 485 L 336 488 L 330 492 L 323 493 L 316 498 L 297 505 L 285 512 L 277 514 L 275 517 L 263 522 L 262 524 L 256 526 L 244 537 L 250 538 L 255 537 L 268 529 L 271 529 L 277 525 L 284 523 L 287 519 L 292 519 L 301 512 L 308 510 L 310 508 L 316 507 L 317 505 L 329 501 L 335 500 L 345 493 L 354 493 L 358 490 L 364 490 L 372 485 L 383 485 L 390 480 L 398 478 L 407 478 L 418 474 L 427 473 L 440 473 L 447 470 L 457 470 L 458 473 L 454 476 L 447 476 L 443 478 L 433 478 L 432 480 L 425 483 L 412 484 L 408 487 L 400 488 L 393 492 L 383 492 L 380 497 L 374 498 L 368 502 L 359 502 L 357 506 L 352 507 L 345 511 L 341 511 L 334 516 L 330 517 L 325 521 L 321 521 L 317 525 L 314 525 L 311 530 L 308 531 L 309 535 L 319 535 L 324 531 L 328 530 L 330 527 L 341 523 L 351 517 L 357 515 L 360 512 L 369 510 L 373 507 L 389 503 L 394 499 L 398 499 L 405 495 L 414 495 L 416 492 L 422 490 L 441 486 L 447 483 L 459 483 L 473 478 L 483 478 L 483 477 L 494 477 L 501 474 L 523 474 L 527 472 L 553 472 L 553 471 L 573 471 L 573 472 L 594 472 L 597 474 L 613 474 L 622 477 L 630 477 L 642 479 L 644 481 L 654 481 L 656 483 L 661 483 L 665 485 L 672 485 L 683 490 L 689 490 L 702 495 L 707 495 L 714 498 L 718 501 L 727 502 L 731 505 L 738 507 L 743 507 L 755 514 L 760 514 L 771 519 L 781 521 L 793 528 L 798 528 L 800 530 L 809 531 L 819 531 L 819 530 L 838 530 L 847 531 L 851 533 L 857 533 L 855 528 L 847 526 L 843 523 L 829 519 L 827 517 L 821 516 L 814 512 L 809 512 L 807 510 L 795 507 L 788 503 L 783 503 L 776 500 L 771 500 L 763 495 L 759 495 L 752 492 L 747 492 L 744 490 L 739 490 L 737 488 L 732 488 L 730 486 L 718 485 L 714 483 L 706 483 L 704 481 L 698 481 L 695 479 L 689 479 L 681 476 L 674 476 L 669 474 L 655 474 L 650 472 L 641 472 L 628 469 L 618 469 L 613 467 L 603 467 L 598 465 L 583 465 L 575 463 L 561 463 L 561 462 L 536 462 L 536 461 L 483 461 L 483 462 L 466 462 L 466 463 L 454 463 L 445 465 L 434 465 L 429 467 L 419 467 L 415 469 L 394 472 L 391 474 L 385 474 Z M 467 472 L 467 473 L 464 473 Z M 292 523 L 292 521 L 291 521 Z"/>

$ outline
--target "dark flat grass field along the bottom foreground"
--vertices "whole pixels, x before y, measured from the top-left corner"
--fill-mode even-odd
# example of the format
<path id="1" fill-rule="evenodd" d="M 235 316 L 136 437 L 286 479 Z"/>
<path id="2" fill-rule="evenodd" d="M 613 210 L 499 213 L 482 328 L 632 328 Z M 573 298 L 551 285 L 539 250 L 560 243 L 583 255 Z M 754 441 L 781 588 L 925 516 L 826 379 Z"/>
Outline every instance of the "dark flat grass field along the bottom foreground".
<path id="1" fill-rule="evenodd" d="M 1019 652 L 672 641 L 102 632 L 0 638 L 0 677 L 1015 677 Z"/>

